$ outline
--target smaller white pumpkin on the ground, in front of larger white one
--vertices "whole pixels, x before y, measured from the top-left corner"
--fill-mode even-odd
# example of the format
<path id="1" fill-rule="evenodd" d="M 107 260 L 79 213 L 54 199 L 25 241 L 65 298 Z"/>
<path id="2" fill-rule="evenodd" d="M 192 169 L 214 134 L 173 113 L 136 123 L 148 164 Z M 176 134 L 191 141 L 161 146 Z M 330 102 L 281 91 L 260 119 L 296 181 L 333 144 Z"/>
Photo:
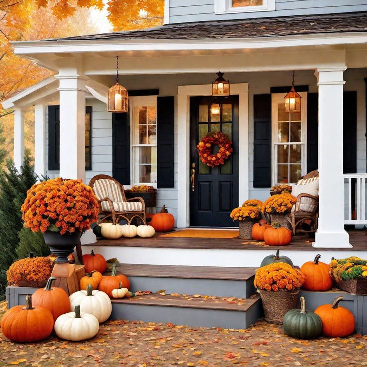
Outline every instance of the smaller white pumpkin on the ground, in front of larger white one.
<path id="1" fill-rule="evenodd" d="M 75 306 L 74 312 L 68 312 L 56 319 L 55 332 L 59 338 L 81 341 L 93 338 L 99 330 L 99 322 L 92 314 L 80 312 L 80 306 Z"/>

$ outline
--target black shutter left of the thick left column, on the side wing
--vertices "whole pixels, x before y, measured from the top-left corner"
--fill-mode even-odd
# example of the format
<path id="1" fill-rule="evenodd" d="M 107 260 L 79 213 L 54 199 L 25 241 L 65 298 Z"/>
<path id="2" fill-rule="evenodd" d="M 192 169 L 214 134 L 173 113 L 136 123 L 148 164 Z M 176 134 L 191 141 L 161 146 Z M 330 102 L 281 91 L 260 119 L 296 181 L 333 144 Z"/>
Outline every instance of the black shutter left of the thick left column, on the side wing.
<path id="1" fill-rule="evenodd" d="M 60 170 L 60 106 L 48 106 L 48 169 Z"/>

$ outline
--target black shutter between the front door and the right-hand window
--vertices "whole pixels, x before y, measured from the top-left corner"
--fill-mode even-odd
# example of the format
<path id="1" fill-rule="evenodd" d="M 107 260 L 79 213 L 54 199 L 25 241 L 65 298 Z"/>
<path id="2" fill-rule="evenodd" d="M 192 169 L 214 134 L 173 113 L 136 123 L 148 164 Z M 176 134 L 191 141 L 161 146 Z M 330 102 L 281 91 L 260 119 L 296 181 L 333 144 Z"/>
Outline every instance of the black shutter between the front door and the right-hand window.
<path id="1" fill-rule="evenodd" d="M 254 187 L 271 186 L 271 94 L 254 95 Z"/>

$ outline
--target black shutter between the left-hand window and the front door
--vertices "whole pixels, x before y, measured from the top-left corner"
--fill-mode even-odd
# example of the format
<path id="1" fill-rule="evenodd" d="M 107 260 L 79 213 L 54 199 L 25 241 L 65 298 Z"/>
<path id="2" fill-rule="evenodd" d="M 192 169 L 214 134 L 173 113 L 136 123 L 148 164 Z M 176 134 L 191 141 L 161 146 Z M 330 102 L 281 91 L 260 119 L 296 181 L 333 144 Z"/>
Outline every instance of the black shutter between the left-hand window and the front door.
<path id="1" fill-rule="evenodd" d="M 174 97 L 157 97 L 157 187 L 174 187 Z"/>

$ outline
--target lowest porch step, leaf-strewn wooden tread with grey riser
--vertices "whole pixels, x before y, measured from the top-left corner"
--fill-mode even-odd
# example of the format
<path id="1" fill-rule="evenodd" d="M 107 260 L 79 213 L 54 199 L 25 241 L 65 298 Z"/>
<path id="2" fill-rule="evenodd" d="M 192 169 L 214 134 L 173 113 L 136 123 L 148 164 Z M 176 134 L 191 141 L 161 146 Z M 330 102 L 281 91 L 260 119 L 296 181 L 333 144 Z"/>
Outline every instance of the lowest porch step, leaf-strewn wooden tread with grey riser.
<path id="1" fill-rule="evenodd" d="M 248 299 L 149 295 L 112 300 L 112 319 L 246 329 L 262 315 L 258 295 Z"/>

